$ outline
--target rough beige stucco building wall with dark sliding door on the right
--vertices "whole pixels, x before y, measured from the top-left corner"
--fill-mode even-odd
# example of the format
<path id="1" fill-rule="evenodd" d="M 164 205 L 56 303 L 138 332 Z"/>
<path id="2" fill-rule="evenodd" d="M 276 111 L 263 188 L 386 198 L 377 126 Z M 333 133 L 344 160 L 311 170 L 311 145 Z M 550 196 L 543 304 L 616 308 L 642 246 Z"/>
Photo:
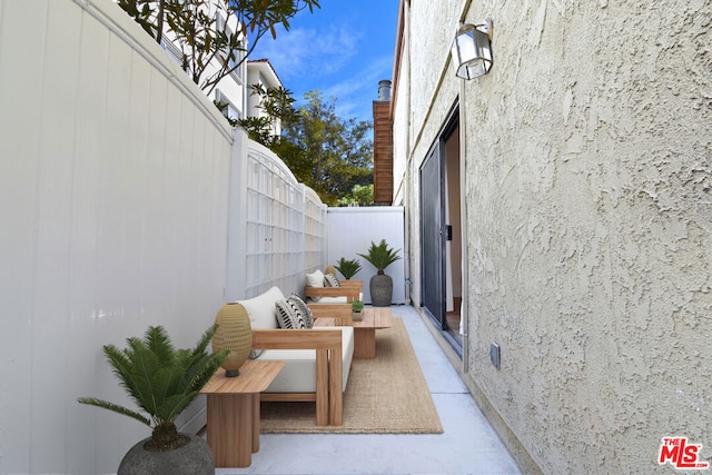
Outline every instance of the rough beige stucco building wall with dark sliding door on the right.
<path id="1" fill-rule="evenodd" d="M 459 79 L 455 31 L 486 17 L 494 66 Z M 673 472 L 668 436 L 712 456 L 710 18 L 710 1 L 400 1 L 411 298 L 526 472 Z"/>

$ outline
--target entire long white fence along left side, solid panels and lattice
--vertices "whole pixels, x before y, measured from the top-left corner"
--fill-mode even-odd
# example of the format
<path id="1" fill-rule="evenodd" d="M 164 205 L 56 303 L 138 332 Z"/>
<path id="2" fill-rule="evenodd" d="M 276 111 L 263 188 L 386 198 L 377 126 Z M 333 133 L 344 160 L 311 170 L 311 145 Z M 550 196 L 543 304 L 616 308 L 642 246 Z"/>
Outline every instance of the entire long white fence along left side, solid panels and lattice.
<path id="1" fill-rule="evenodd" d="M 2 474 L 115 472 L 149 429 L 77 403 L 132 407 L 102 345 L 325 265 L 318 198 L 109 0 L 0 0 L 0 198 Z"/>

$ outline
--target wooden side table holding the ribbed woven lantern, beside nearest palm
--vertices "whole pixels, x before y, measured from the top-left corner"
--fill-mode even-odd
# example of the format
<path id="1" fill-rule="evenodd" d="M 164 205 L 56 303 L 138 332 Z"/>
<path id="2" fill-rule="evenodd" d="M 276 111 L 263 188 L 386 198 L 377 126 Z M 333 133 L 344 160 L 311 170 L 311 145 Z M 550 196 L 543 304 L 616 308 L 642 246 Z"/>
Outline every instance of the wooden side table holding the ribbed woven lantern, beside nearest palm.
<path id="1" fill-rule="evenodd" d="M 247 360 L 239 376 L 218 369 L 200 390 L 208 395 L 208 445 L 216 467 L 249 467 L 259 451 L 259 393 L 285 362 Z"/>

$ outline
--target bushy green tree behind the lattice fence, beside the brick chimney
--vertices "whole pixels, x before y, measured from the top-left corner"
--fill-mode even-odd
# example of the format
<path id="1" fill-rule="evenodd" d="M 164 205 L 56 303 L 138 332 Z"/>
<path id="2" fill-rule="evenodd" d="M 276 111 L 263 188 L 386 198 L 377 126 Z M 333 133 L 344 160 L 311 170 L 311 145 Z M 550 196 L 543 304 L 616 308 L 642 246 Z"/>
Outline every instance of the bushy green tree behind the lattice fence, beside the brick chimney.
<path id="1" fill-rule="evenodd" d="M 336 99 L 309 91 L 297 113 L 283 118 L 281 137 L 270 147 L 297 179 L 328 205 L 373 182 L 373 142 L 369 121 L 342 119 Z"/>

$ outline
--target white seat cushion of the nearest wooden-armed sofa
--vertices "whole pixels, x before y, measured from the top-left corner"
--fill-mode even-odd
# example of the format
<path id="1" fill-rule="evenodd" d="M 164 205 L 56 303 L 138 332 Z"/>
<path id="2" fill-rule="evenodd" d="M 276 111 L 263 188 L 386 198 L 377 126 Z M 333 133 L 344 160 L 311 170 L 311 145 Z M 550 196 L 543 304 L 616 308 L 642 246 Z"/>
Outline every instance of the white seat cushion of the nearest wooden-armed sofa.
<path id="1" fill-rule="evenodd" d="M 327 327 L 342 329 L 343 389 L 346 390 L 348 372 L 354 359 L 354 327 Z M 312 331 L 319 331 L 318 328 Z M 266 393 L 314 393 L 316 392 L 315 349 L 265 349 L 259 360 L 285 362 Z"/>

